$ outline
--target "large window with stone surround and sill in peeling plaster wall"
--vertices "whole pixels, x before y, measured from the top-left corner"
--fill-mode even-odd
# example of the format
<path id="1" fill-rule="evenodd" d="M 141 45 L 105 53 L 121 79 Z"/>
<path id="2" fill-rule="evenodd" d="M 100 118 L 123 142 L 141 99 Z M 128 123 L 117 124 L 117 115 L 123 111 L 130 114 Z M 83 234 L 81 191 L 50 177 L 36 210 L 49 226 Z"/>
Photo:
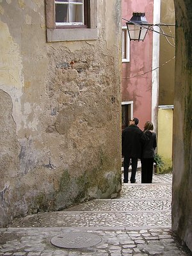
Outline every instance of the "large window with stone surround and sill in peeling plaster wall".
<path id="1" fill-rule="evenodd" d="M 45 0 L 47 42 L 97 40 L 96 0 Z"/>

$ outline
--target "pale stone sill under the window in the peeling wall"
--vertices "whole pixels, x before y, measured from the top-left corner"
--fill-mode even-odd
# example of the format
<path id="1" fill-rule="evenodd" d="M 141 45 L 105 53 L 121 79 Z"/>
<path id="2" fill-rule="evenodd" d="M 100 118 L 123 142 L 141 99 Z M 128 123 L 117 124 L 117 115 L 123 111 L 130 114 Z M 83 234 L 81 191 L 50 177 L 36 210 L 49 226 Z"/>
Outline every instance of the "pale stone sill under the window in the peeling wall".
<path id="1" fill-rule="evenodd" d="M 97 29 L 47 29 L 47 42 L 97 40 Z"/>

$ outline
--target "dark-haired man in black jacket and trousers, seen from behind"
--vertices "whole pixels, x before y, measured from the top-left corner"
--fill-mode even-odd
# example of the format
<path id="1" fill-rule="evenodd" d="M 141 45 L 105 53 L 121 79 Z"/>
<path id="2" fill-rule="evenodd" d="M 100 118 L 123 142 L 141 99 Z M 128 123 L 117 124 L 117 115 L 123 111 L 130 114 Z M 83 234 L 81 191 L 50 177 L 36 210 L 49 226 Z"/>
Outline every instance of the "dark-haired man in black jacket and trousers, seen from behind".
<path id="1" fill-rule="evenodd" d="M 139 120 L 134 117 L 129 126 L 122 132 L 122 156 L 124 156 L 124 183 L 128 182 L 129 164 L 131 160 L 131 183 L 135 183 L 138 158 L 141 158 L 141 136 L 143 132 L 138 127 Z"/>

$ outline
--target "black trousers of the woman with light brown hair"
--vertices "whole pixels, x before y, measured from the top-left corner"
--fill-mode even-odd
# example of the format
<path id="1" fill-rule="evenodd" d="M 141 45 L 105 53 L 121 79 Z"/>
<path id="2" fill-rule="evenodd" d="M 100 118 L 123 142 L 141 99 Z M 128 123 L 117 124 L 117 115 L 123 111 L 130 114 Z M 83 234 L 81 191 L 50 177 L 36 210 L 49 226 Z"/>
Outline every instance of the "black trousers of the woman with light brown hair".
<path id="1" fill-rule="evenodd" d="M 152 183 L 154 158 L 141 158 L 141 183 Z"/>

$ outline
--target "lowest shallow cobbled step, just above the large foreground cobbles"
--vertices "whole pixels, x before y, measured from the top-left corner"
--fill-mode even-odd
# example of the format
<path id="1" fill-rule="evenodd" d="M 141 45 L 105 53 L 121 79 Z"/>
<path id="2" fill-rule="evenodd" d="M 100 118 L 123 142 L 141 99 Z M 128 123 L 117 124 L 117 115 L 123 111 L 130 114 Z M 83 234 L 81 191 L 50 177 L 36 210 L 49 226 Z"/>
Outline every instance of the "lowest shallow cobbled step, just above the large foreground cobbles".
<path id="1" fill-rule="evenodd" d="M 11 227 L 171 227 L 170 211 L 42 212 L 15 219 Z"/>

